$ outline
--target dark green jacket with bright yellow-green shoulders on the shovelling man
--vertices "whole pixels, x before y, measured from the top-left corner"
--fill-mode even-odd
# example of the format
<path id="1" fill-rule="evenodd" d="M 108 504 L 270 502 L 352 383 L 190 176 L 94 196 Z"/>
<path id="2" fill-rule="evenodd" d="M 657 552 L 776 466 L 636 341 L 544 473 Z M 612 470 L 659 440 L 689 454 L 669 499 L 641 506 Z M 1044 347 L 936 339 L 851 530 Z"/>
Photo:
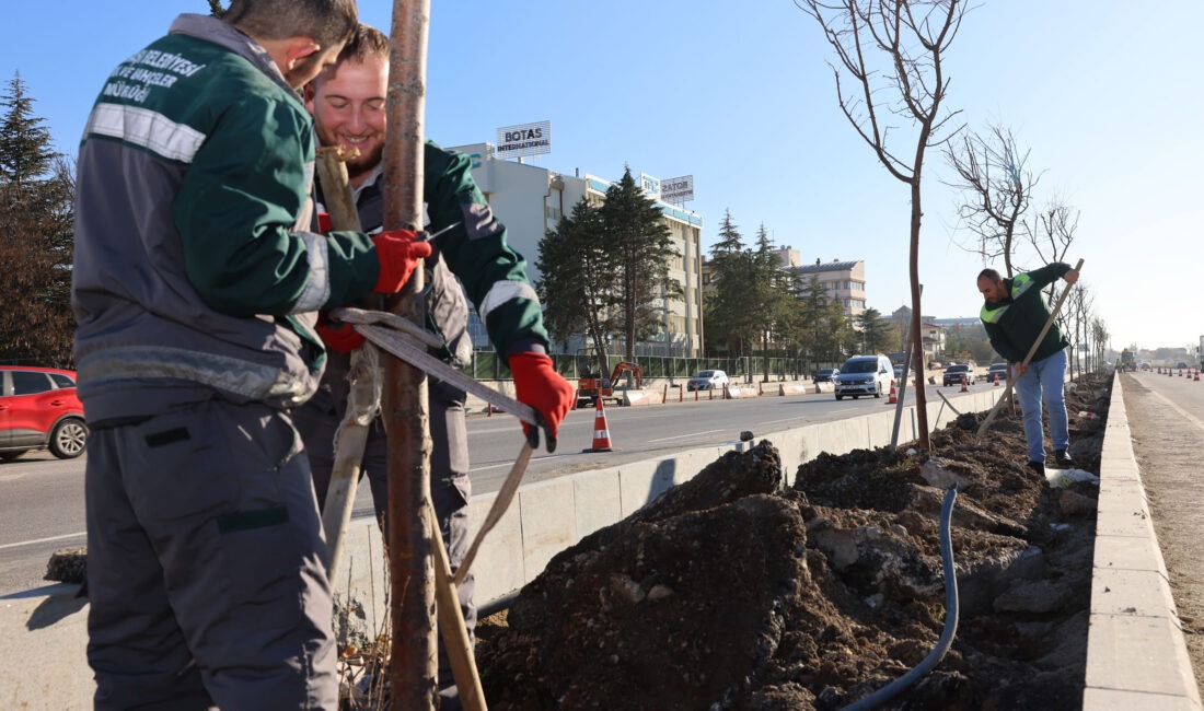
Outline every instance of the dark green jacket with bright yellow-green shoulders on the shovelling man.
<path id="1" fill-rule="evenodd" d="M 1054 262 L 1003 280 L 1009 297 L 997 303 L 984 302 L 980 314 L 987 338 L 991 339 L 991 346 L 996 352 L 1010 362 L 1023 362 L 1028 349 L 1037 342 L 1037 336 L 1050 318 L 1050 309 L 1041 289 L 1069 271 L 1070 265 Z M 1069 344 L 1055 321 L 1033 354 L 1033 361 L 1045 360 Z"/>

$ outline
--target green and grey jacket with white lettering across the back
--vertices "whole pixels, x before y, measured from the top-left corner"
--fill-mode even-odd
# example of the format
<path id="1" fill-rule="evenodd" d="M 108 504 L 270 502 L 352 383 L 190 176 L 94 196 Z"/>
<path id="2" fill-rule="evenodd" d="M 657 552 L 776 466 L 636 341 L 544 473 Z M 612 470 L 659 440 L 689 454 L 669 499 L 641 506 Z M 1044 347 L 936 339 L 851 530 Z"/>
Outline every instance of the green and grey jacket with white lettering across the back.
<path id="1" fill-rule="evenodd" d="M 199 14 L 110 75 L 79 146 L 72 309 L 90 421 L 222 397 L 288 408 L 314 312 L 372 291 L 367 235 L 313 219 L 309 114 L 267 53 Z"/>

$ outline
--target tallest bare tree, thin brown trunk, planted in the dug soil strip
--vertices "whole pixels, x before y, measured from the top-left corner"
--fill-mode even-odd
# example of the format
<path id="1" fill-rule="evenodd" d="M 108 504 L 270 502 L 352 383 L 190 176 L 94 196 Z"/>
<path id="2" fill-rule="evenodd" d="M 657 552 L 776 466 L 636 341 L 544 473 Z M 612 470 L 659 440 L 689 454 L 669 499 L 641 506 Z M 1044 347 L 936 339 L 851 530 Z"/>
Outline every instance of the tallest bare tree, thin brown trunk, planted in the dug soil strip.
<path id="1" fill-rule="evenodd" d="M 832 66 L 840 111 L 878 160 L 911 191 L 911 338 L 920 343 L 920 219 L 923 214 L 920 184 L 925 152 L 937 146 L 945 123 L 957 112 L 942 114 L 949 89 L 943 55 L 952 43 L 966 14 L 961 0 L 795 0 L 824 29 L 836 49 L 839 65 Z M 843 76 L 854 79 L 845 89 Z M 884 100 L 890 96 L 890 100 Z M 897 141 L 907 153 L 896 152 L 887 138 L 902 120 L 914 131 L 914 141 Z M 922 387 L 916 389 L 920 448 L 929 449 L 928 416 Z"/>

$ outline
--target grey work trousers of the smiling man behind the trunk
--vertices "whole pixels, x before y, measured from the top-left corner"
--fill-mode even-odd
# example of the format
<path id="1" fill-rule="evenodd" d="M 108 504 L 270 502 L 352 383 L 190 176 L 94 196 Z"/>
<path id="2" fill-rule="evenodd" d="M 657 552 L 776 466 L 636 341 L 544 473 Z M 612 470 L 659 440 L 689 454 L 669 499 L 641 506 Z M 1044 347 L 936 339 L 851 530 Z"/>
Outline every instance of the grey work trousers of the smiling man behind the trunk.
<path id="1" fill-rule="evenodd" d="M 448 550 L 448 563 L 455 573 L 468 552 L 468 499 L 472 482 L 468 479 L 468 432 L 464 415 L 465 393 L 445 383 L 430 379 L 427 410 L 431 426 L 431 502 Z M 321 387 L 313 398 L 294 410 L 297 431 L 305 440 L 313 485 L 319 505 L 326 500 L 326 488 L 335 468 L 335 432 L 347 409 L 344 387 Z M 372 421 L 364 449 L 362 473 L 372 487 L 372 503 L 377 521 L 385 521 L 389 508 L 388 440 L 380 417 Z M 384 523 L 382 523 L 382 528 Z M 474 579 L 472 571 L 458 588 L 460 611 L 464 614 L 468 638 L 477 627 L 477 608 L 472 602 Z M 450 685 L 450 666 L 443 654 L 439 638 L 439 683 Z"/>

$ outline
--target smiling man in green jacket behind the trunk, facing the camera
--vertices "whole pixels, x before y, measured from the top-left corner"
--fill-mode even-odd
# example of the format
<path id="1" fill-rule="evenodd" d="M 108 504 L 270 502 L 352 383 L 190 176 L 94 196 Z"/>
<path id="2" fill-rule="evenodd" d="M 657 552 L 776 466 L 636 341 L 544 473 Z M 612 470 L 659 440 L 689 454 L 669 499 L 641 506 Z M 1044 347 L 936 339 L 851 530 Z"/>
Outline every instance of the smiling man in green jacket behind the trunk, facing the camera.
<path id="1" fill-rule="evenodd" d="M 306 87 L 306 106 L 313 113 L 318 140 L 326 147 L 359 150 L 348 161 L 360 226 L 368 233 L 384 223 L 385 95 L 389 84 L 389 37 L 361 24 L 347 42 L 338 61 Z M 472 178 L 472 160 L 427 141 L 424 149 L 424 214 L 435 253 L 426 259 L 424 291 L 427 328 L 443 343 L 431 355 L 454 367 L 472 359 L 468 336 L 468 301 L 477 308 L 490 340 L 514 375 L 518 398 L 543 414 L 549 436 L 572 407 L 573 387 L 553 368 L 547 354 L 548 333 L 539 300 L 526 274 L 526 261 L 507 243 L 508 231 L 492 213 Z M 319 211 L 325 196 L 319 190 Z M 464 286 L 461 288 L 461 284 Z M 350 352 L 364 337 L 347 325 L 321 321 L 330 366 L 317 395 L 294 411 L 297 429 L 309 454 L 314 490 L 324 505 L 335 464 L 335 439 L 347 411 L 350 390 L 347 377 Z M 468 552 L 468 433 L 465 393 L 432 378 L 427 392 L 430 413 L 431 502 L 455 573 Z M 549 443 L 550 444 L 550 443 Z M 368 426 L 361 472 L 372 487 L 377 520 L 384 526 L 388 512 L 388 440 L 382 417 Z M 477 622 L 473 604 L 474 576 L 470 570 L 456 586 L 460 609 L 470 638 Z M 450 663 L 439 645 L 439 694 L 443 709 L 454 709 L 458 694 Z"/>

